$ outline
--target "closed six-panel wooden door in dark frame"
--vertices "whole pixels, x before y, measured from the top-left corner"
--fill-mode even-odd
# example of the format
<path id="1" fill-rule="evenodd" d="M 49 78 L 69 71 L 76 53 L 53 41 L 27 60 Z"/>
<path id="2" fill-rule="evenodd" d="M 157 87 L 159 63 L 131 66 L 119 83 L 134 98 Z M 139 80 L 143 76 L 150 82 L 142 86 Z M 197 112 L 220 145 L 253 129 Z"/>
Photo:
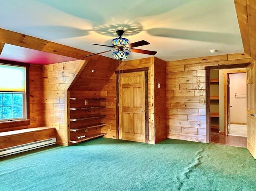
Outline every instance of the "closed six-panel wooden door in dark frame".
<path id="1" fill-rule="evenodd" d="M 119 138 L 136 142 L 145 139 L 145 73 L 119 75 Z"/>

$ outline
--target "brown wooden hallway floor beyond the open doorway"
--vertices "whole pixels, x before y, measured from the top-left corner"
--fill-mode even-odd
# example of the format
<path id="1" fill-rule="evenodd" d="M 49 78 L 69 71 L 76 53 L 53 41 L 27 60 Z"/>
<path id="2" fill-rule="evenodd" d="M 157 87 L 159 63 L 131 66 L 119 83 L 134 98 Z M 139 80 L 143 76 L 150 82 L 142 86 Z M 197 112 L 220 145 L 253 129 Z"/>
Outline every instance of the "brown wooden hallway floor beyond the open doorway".
<path id="1" fill-rule="evenodd" d="M 246 137 L 220 135 L 218 132 L 211 131 L 211 143 L 246 147 Z"/>

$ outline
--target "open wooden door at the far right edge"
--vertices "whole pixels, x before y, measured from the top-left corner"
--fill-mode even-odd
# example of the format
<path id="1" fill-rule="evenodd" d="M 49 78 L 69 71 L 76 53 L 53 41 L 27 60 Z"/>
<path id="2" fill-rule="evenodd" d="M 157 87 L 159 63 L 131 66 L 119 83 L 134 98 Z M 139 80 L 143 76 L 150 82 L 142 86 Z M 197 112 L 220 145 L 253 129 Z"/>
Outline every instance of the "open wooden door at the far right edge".
<path id="1" fill-rule="evenodd" d="M 256 148 L 255 148 L 255 61 L 246 67 L 247 79 L 247 149 L 256 159 Z"/>

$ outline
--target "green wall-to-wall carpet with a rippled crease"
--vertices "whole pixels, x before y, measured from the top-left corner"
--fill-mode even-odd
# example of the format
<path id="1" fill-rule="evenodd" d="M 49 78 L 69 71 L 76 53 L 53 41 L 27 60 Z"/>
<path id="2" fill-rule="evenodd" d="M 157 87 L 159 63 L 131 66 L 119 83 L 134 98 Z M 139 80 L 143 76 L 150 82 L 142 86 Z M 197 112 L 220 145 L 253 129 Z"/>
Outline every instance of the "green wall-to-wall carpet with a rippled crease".
<path id="1" fill-rule="evenodd" d="M 246 148 L 98 138 L 0 158 L 0 191 L 255 191 Z"/>

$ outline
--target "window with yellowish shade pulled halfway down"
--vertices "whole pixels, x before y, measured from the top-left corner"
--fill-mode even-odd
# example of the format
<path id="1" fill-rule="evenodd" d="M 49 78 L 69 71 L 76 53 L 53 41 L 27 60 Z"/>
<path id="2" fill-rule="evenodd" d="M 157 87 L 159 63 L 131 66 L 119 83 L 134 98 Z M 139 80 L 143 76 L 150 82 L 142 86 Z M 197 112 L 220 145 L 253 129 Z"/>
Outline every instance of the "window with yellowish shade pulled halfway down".
<path id="1" fill-rule="evenodd" d="M 26 67 L 0 64 L 0 122 L 26 118 Z"/>

